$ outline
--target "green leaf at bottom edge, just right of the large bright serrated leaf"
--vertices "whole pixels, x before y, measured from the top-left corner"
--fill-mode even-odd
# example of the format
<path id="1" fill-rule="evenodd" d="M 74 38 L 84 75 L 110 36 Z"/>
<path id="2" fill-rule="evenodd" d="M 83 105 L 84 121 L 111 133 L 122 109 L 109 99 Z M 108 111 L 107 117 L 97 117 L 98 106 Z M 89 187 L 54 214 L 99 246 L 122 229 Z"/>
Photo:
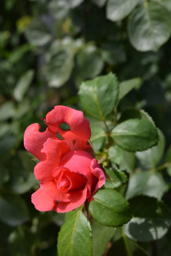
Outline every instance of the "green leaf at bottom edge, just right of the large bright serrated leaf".
<path id="1" fill-rule="evenodd" d="M 92 249 L 93 256 L 102 256 L 107 248 L 107 244 L 115 233 L 112 227 L 105 227 L 92 220 Z"/>

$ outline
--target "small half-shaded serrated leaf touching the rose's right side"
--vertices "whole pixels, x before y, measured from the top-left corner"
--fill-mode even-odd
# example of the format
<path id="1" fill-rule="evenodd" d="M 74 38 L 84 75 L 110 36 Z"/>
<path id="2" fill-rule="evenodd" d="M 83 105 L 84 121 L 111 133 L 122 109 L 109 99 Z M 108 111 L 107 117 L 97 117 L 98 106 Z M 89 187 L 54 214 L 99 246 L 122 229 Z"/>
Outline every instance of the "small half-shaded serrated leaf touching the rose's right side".
<path id="1" fill-rule="evenodd" d="M 126 174 L 120 170 L 110 168 L 105 169 L 105 171 L 110 177 L 110 180 L 106 179 L 105 188 L 107 189 L 114 189 L 116 187 L 120 187 L 128 180 Z"/>

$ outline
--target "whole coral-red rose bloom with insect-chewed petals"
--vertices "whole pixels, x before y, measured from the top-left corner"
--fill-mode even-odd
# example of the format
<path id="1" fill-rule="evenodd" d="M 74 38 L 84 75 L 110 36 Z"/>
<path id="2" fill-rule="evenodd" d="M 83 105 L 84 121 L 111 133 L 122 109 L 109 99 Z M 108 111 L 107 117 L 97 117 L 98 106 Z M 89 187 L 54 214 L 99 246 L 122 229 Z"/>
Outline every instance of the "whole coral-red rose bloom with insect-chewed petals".
<path id="1" fill-rule="evenodd" d="M 105 184 L 105 174 L 88 153 L 91 130 L 81 111 L 55 106 L 43 120 L 46 131 L 40 132 L 39 124 L 33 123 L 24 133 L 26 150 L 40 160 L 34 168 L 40 188 L 31 200 L 39 211 L 69 212 L 93 200 Z M 62 130 L 61 123 L 67 123 L 69 129 Z"/>

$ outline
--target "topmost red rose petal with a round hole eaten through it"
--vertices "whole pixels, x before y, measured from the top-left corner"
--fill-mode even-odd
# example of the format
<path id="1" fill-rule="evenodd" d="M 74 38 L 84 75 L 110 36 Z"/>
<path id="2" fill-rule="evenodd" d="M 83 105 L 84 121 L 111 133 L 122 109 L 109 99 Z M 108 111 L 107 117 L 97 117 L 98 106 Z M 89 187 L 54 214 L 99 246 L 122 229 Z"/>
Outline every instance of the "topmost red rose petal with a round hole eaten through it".
<path id="1" fill-rule="evenodd" d="M 67 123 L 71 127 L 71 130 L 63 131 L 59 128 L 61 123 Z M 89 121 L 84 118 L 83 113 L 79 110 L 65 106 L 55 106 L 54 109 L 46 115 L 46 124 L 52 132 L 59 132 L 60 135 L 69 142 L 71 148 L 77 148 L 77 144 L 75 146 L 73 145 L 74 140 L 80 145 L 83 144 L 82 146 L 85 148 L 85 143 L 87 143 L 91 137 Z M 78 140 L 83 140 L 83 142 L 80 143 Z"/>

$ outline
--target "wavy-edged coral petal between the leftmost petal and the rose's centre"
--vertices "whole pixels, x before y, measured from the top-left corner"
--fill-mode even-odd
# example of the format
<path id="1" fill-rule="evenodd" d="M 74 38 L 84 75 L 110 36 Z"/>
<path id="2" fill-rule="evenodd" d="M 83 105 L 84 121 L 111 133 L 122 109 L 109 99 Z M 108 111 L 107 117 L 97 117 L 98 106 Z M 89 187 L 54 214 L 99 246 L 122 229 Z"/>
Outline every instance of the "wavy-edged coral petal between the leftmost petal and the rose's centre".
<path id="1" fill-rule="evenodd" d="M 48 138 L 41 150 L 41 153 L 46 155 L 46 160 L 40 161 L 34 168 L 36 179 L 52 180 L 53 170 L 59 166 L 60 158 L 69 151 L 70 148 L 65 141 Z"/>

